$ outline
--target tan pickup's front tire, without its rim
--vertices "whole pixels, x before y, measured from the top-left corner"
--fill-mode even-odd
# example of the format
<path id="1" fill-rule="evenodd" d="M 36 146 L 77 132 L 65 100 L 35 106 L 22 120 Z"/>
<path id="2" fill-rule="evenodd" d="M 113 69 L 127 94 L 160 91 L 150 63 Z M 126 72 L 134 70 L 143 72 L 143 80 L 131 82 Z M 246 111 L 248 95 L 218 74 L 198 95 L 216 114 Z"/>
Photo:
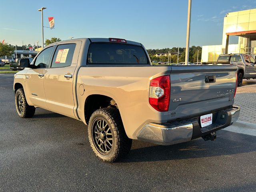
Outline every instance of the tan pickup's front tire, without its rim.
<path id="1" fill-rule="evenodd" d="M 19 109 L 19 102 L 18 102 L 19 96 L 21 98 L 21 102 L 23 106 L 22 110 Z M 31 118 L 32 116 L 34 116 L 36 111 L 36 108 L 34 106 L 28 105 L 23 88 L 19 88 L 15 93 L 15 106 L 16 106 L 16 111 L 21 118 Z"/>

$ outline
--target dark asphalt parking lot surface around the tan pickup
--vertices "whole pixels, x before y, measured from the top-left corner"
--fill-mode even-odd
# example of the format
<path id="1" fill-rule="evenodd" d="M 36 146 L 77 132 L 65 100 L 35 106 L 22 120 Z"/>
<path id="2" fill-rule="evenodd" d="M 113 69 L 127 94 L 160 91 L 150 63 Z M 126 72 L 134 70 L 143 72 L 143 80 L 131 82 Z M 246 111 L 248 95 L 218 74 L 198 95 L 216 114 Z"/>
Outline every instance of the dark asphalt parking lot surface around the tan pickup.
<path id="1" fill-rule="evenodd" d="M 173 146 L 133 141 L 123 162 L 98 160 L 86 126 L 37 109 L 21 119 L 13 74 L 0 74 L 0 191 L 255 192 L 256 137 L 220 130 L 217 140 Z"/>

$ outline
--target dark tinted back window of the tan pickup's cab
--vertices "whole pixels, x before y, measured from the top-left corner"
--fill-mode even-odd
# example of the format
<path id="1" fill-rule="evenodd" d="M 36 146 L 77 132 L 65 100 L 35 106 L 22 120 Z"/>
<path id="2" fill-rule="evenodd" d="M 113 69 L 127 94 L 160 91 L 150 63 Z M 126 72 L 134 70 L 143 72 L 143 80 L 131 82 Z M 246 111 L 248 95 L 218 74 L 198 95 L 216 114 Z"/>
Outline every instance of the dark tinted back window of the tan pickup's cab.
<path id="1" fill-rule="evenodd" d="M 142 46 L 115 43 L 92 43 L 87 64 L 144 65 L 149 64 Z"/>

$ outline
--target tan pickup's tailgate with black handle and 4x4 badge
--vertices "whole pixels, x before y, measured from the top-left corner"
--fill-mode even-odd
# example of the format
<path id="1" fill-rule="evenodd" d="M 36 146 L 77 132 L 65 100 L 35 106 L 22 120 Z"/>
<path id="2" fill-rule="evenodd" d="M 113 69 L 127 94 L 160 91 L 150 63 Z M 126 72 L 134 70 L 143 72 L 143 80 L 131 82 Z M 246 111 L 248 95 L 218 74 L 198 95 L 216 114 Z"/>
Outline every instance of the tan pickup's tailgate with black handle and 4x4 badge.
<path id="1" fill-rule="evenodd" d="M 236 70 L 236 66 L 224 65 L 172 66 L 169 120 L 231 106 Z"/>

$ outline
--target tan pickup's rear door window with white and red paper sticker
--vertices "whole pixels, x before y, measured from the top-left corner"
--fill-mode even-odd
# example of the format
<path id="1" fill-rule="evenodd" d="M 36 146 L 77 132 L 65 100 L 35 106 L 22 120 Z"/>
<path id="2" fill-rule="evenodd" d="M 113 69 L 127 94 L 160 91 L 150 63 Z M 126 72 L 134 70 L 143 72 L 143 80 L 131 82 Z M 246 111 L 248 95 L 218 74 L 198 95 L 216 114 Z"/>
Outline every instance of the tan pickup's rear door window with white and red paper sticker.
<path id="1" fill-rule="evenodd" d="M 54 53 L 51 67 L 67 67 L 72 64 L 76 44 L 59 45 Z"/>

